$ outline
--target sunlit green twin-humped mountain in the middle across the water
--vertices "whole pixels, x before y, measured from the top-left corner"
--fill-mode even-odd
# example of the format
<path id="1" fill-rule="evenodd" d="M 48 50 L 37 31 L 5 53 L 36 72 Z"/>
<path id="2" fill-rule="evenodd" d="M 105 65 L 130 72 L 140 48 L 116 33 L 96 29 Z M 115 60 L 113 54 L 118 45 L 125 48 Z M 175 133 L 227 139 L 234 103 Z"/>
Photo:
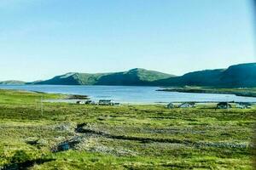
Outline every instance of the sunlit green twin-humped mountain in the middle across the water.
<path id="1" fill-rule="evenodd" d="M 89 74 L 70 72 L 46 81 L 36 82 L 35 84 L 146 86 L 152 84 L 154 81 L 169 77 L 174 76 L 158 71 L 137 68 L 130 71 L 113 73 Z"/>

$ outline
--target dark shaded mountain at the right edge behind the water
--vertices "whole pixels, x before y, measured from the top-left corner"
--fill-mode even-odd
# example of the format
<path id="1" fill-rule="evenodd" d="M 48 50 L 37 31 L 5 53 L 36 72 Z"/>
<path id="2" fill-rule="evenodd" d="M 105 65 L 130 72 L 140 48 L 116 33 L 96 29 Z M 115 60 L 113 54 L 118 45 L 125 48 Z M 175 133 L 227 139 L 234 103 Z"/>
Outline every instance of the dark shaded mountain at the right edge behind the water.
<path id="1" fill-rule="evenodd" d="M 256 63 L 231 65 L 227 69 L 189 72 L 181 77 L 155 81 L 154 85 L 219 88 L 256 87 Z"/>

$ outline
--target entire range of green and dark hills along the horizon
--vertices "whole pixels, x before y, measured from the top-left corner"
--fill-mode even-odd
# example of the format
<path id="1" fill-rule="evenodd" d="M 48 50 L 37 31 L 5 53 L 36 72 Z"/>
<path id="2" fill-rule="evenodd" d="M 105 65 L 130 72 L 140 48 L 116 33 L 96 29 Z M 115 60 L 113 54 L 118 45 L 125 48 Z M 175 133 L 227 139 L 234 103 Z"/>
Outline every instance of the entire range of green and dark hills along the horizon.
<path id="1" fill-rule="evenodd" d="M 194 71 L 181 77 L 132 69 L 113 73 L 78 73 L 70 72 L 46 81 L 20 82 L 6 81 L 0 84 L 55 84 L 55 85 L 124 85 L 124 86 L 203 86 L 219 88 L 256 87 L 256 63 L 231 65 L 227 69 Z"/>

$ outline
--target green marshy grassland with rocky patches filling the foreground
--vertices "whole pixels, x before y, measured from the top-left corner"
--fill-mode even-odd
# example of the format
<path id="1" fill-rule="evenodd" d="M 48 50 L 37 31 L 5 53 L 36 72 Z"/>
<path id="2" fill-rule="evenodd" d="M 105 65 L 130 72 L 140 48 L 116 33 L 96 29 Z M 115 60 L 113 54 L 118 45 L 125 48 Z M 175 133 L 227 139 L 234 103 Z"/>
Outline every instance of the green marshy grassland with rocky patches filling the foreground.
<path id="1" fill-rule="evenodd" d="M 252 169 L 256 108 L 75 105 L 0 90 L 0 169 Z"/>

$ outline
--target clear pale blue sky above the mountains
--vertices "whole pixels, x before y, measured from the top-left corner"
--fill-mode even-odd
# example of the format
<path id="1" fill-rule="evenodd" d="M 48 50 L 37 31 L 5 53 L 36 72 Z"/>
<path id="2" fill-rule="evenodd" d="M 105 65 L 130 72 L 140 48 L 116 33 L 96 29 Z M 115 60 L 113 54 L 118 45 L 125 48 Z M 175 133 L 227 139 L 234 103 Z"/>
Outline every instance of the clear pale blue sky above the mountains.
<path id="1" fill-rule="evenodd" d="M 247 0 L 0 0 L 0 80 L 255 62 Z"/>

